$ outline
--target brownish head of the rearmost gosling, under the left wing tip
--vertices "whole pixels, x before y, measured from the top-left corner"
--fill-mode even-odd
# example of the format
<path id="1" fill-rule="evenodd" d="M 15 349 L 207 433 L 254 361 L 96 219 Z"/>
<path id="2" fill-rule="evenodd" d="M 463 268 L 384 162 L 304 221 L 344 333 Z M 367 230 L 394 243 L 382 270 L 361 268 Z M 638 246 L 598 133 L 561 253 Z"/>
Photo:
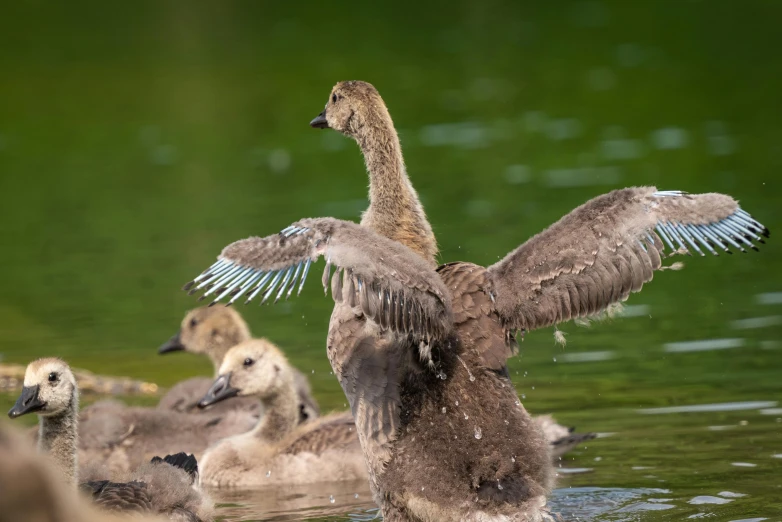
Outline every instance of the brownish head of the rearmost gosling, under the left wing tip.
<path id="1" fill-rule="evenodd" d="M 231 346 L 250 338 L 242 316 L 223 305 L 190 310 L 179 331 L 158 349 L 158 353 L 187 351 L 211 357 L 216 366 Z"/>

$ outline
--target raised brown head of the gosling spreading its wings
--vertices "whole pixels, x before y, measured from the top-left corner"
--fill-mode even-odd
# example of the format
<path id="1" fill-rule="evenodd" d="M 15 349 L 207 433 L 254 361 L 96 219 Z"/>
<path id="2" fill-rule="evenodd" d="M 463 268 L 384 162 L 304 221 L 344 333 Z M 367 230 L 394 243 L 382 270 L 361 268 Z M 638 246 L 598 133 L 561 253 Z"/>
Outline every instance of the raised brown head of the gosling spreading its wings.
<path id="1" fill-rule="evenodd" d="M 310 122 L 310 126 L 334 129 L 357 139 L 373 118 L 390 118 L 377 89 L 367 82 L 339 82 L 331 90 L 326 108 Z"/>

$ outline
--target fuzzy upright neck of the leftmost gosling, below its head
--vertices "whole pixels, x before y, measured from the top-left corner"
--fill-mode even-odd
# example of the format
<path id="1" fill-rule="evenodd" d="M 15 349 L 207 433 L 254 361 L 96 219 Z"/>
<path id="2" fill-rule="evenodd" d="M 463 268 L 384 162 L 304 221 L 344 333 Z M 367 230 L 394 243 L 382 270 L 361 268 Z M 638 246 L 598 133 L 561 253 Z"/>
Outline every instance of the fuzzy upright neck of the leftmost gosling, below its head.
<path id="1" fill-rule="evenodd" d="M 77 447 L 79 392 L 74 389 L 69 407 L 57 415 L 41 415 L 38 428 L 38 451 L 51 455 L 55 466 L 68 483 L 77 483 Z"/>

